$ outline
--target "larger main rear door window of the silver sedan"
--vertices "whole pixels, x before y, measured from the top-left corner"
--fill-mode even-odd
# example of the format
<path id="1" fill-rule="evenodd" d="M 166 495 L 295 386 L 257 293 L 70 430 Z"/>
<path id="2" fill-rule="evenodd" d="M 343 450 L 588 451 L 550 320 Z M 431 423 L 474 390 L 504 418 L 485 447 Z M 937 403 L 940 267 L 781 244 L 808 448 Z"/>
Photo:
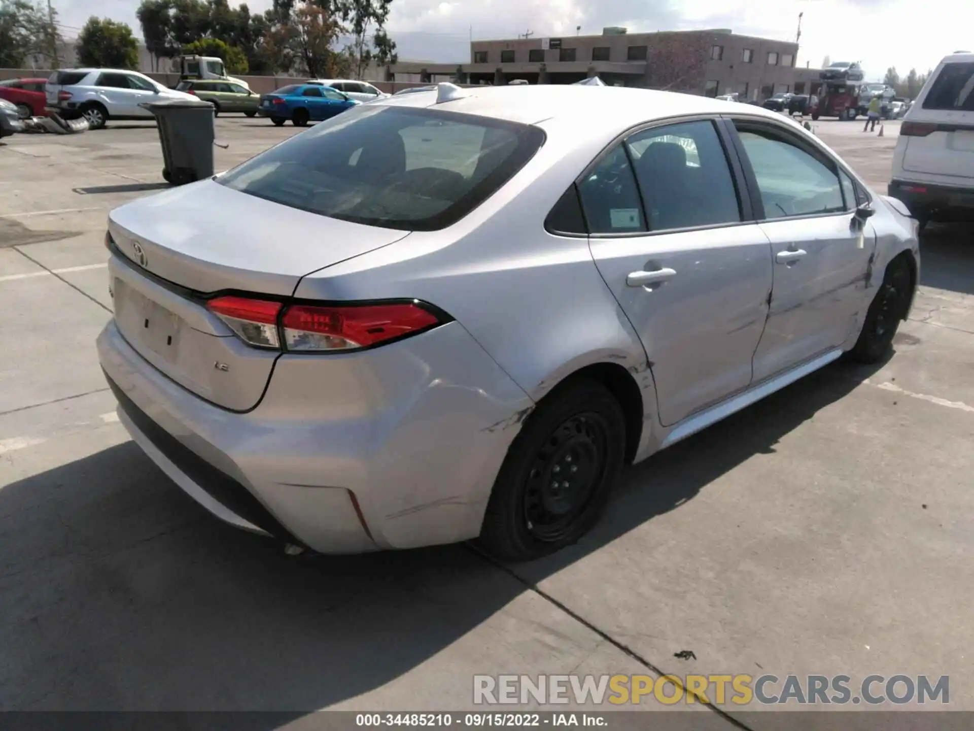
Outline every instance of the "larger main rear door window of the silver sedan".
<path id="1" fill-rule="evenodd" d="M 650 231 L 740 221 L 731 168 L 712 122 L 654 127 L 626 144 Z"/>

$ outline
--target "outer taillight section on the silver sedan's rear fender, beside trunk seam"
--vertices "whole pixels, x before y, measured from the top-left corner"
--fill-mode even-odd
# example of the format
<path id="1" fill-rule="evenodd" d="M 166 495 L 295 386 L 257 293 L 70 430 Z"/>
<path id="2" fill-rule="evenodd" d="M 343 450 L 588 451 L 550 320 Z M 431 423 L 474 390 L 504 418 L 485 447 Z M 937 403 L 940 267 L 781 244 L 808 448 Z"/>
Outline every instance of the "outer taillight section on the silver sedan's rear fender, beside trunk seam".
<path id="1" fill-rule="evenodd" d="M 289 351 L 338 351 L 368 348 L 416 334 L 440 324 L 439 318 L 413 302 L 352 307 L 288 307 L 281 320 Z"/>

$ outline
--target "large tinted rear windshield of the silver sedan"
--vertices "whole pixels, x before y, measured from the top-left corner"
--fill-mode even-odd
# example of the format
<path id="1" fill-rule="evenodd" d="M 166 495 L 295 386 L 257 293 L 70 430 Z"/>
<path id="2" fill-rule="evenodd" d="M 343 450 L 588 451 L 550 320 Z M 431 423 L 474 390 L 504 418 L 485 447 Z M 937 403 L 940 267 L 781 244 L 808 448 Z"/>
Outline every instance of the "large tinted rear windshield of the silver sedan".
<path id="1" fill-rule="evenodd" d="M 220 178 L 291 208 L 432 231 L 479 206 L 537 152 L 537 127 L 431 109 L 362 105 Z"/>

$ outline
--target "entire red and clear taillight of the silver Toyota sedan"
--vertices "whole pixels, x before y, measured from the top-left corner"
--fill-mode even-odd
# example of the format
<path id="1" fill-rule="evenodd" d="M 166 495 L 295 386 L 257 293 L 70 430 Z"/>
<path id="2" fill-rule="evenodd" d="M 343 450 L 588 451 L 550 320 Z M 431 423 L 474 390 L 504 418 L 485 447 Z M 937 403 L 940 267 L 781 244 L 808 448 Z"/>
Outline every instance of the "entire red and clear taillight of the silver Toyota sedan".
<path id="1" fill-rule="evenodd" d="M 446 322 L 416 302 L 325 307 L 225 296 L 206 307 L 247 345 L 297 353 L 369 348 Z"/>

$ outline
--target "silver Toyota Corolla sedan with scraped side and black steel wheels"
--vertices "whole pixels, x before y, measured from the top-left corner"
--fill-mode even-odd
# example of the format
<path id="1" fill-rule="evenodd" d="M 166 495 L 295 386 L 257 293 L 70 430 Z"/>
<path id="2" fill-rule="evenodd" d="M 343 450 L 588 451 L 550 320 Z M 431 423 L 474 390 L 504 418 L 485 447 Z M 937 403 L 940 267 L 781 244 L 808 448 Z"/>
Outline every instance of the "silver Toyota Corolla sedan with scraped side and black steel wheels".
<path id="1" fill-rule="evenodd" d="M 109 217 L 119 416 L 322 553 L 572 543 L 638 462 L 884 358 L 917 223 L 753 105 L 611 87 L 349 110 Z"/>

